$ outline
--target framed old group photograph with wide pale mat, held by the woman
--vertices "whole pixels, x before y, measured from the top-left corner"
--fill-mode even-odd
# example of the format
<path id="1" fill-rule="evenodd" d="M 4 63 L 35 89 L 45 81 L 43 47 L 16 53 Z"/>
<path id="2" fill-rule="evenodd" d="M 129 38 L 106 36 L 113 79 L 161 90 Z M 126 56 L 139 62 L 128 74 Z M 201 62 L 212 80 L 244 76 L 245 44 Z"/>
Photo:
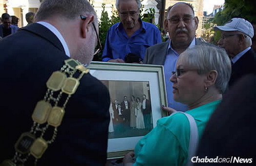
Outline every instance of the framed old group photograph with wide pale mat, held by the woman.
<path id="1" fill-rule="evenodd" d="M 110 92 L 108 159 L 122 158 L 167 116 L 161 110 L 167 106 L 163 67 L 92 62 L 88 68 Z"/>

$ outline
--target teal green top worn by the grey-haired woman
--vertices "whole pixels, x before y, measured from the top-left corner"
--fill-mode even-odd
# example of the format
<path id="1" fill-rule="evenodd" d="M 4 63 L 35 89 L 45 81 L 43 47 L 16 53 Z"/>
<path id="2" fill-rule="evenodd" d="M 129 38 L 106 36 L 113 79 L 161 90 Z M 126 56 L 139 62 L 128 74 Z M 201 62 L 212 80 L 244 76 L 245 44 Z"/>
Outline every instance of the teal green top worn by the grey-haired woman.
<path id="1" fill-rule="evenodd" d="M 186 111 L 197 123 L 199 139 L 221 100 Z M 158 119 L 157 126 L 139 140 L 133 166 L 184 166 L 187 162 L 190 126 L 182 113 Z"/>

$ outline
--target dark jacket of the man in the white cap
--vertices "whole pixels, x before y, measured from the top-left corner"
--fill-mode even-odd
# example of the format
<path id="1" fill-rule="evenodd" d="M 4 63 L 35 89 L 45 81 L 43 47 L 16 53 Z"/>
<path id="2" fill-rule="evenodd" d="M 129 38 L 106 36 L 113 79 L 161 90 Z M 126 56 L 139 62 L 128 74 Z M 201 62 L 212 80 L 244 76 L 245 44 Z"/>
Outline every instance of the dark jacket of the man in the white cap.
<path id="1" fill-rule="evenodd" d="M 229 87 L 245 74 L 256 74 L 256 54 L 253 49 L 247 51 L 232 65 Z"/>

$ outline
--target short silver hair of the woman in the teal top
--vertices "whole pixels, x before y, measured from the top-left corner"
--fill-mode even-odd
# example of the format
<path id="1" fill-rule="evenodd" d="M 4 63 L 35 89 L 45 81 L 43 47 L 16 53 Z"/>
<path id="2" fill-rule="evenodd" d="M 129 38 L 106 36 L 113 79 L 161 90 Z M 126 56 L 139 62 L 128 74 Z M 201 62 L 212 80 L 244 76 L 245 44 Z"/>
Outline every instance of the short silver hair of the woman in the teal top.
<path id="1" fill-rule="evenodd" d="M 215 87 L 220 93 L 225 92 L 231 74 L 231 61 L 224 49 L 205 44 L 196 45 L 179 55 L 181 60 L 189 66 L 198 69 L 198 74 L 217 71 Z"/>

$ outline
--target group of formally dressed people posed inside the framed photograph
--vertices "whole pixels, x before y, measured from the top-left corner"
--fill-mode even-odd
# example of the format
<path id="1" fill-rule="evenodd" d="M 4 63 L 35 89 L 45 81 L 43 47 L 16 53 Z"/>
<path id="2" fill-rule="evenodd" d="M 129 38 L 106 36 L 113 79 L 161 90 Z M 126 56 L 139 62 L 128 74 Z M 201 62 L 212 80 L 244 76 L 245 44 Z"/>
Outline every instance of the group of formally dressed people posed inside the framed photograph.
<path id="1" fill-rule="evenodd" d="M 120 103 L 117 99 L 110 104 L 110 124 L 109 132 L 125 132 L 127 129 L 152 129 L 152 109 L 151 102 L 143 94 L 142 100 L 139 97 L 123 96 Z"/>

